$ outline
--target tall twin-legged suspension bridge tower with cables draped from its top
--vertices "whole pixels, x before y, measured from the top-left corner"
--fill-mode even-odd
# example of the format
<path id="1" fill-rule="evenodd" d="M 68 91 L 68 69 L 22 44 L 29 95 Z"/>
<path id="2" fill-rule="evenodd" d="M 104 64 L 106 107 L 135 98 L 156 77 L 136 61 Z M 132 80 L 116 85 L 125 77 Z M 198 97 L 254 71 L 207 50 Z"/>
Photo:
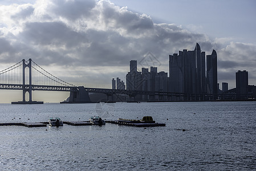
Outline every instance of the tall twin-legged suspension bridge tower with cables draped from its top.
<path id="1" fill-rule="evenodd" d="M 31 59 L 29 59 L 29 63 L 26 64 L 25 59 L 22 60 L 23 62 L 23 70 L 22 70 L 22 75 L 23 75 L 23 103 L 26 103 L 26 92 L 29 92 L 29 103 L 32 103 L 32 71 L 31 71 Z M 29 67 L 29 89 L 25 88 L 26 85 L 26 72 L 25 69 L 26 67 Z"/>

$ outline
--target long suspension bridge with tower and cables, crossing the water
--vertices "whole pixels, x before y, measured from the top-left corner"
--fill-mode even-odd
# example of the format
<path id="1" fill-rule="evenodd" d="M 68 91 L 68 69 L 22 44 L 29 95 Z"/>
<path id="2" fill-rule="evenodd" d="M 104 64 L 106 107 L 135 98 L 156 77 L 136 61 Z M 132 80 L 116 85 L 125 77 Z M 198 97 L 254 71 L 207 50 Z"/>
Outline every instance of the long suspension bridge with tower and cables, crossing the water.
<path id="1" fill-rule="evenodd" d="M 127 101 L 136 101 L 135 97 L 148 96 L 149 101 L 177 101 L 177 100 L 210 100 L 213 95 L 176 93 L 176 92 L 153 92 L 137 91 L 127 89 L 106 89 L 106 88 L 86 88 L 75 86 L 50 74 L 32 59 L 21 60 L 20 62 L 0 71 L 0 89 L 20 90 L 23 92 L 22 101 L 12 102 L 12 104 L 38 104 L 43 101 L 33 101 L 32 91 L 63 91 L 70 92 L 66 103 L 90 103 L 88 93 L 104 93 L 107 101 L 114 101 L 113 95 L 127 95 Z M 29 100 L 26 101 L 26 93 L 29 93 Z"/>

